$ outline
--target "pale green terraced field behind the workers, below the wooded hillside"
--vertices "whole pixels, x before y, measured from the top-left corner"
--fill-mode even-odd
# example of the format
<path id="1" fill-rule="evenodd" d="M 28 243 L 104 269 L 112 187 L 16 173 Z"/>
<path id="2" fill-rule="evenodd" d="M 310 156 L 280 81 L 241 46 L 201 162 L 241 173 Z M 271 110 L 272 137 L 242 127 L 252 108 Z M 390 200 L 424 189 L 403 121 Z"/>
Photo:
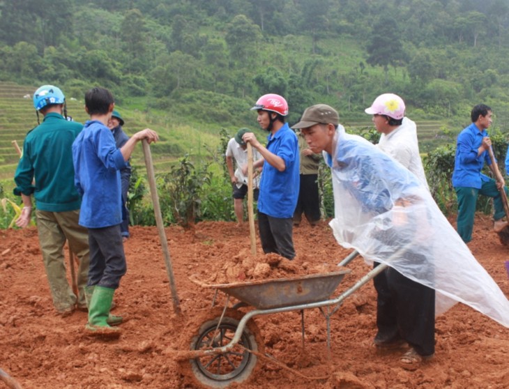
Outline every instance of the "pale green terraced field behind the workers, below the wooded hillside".
<path id="1" fill-rule="evenodd" d="M 33 91 L 37 86 L 20 86 L 13 82 L 0 82 L 0 179 L 14 175 L 19 155 L 13 142 L 22 148 L 26 132 L 37 125 L 36 112 L 32 105 Z M 88 119 L 84 111 L 84 102 L 70 98 L 67 100 L 68 115 L 75 121 L 84 123 Z M 202 131 L 199 128 L 174 125 L 172 118 L 144 112 L 119 108 L 126 125 L 123 130 L 132 135 L 138 130 L 150 126 L 160 134 L 160 142 L 151 146 L 156 171 L 167 171 L 169 167 L 183 157 L 190 155 L 206 155 L 208 150 L 219 143 L 219 135 L 214 132 Z M 42 117 L 40 118 L 42 120 Z M 372 121 L 346 121 L 347 130 L 372 128 Z M 439 144 L 451 142 L 443 136 L 441 121 L 417 121 L 420 151 L 426 154 Z M 143 153 L 135 152 L 132 164 L 144 167 Z"/>

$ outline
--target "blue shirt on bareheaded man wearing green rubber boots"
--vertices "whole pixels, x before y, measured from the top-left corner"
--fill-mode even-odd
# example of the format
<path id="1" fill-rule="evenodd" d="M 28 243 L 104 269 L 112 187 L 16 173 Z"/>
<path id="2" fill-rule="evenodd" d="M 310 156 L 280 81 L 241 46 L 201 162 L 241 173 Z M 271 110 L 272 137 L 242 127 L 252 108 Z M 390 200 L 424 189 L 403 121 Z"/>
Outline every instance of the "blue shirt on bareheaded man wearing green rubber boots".
<path id="1" fill-rule="evenodd" d="M 112 131 L 100 121 L 87 121 L 73 143 L 73 163 L 75 186 L 83 196 L 79 224 L 87 228 L 120 224 L 120 169 L 127 162 Z"/>

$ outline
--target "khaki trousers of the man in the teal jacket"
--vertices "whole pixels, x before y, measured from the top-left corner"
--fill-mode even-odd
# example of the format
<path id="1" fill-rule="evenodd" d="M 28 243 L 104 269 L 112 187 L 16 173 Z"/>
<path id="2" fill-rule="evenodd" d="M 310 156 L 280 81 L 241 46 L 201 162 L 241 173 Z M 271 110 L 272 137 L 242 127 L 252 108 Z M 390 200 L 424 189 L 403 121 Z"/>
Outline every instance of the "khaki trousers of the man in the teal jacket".
<path id="1" fill-rule="evenodd" d="M 53 304 L 57 311 L 72 310 L 77 304 L 86 307 L 85 291 L 89 277 L 89 234 L 78 224 L 79 210 L 67 212 L 36 211 L 40 250 L 50 284 Z M 63 245 L 69 243 L 70 250 L 79 261 L 77 268 L 78 296 L 73 293 L 66 273 L 66 257 Z"/>

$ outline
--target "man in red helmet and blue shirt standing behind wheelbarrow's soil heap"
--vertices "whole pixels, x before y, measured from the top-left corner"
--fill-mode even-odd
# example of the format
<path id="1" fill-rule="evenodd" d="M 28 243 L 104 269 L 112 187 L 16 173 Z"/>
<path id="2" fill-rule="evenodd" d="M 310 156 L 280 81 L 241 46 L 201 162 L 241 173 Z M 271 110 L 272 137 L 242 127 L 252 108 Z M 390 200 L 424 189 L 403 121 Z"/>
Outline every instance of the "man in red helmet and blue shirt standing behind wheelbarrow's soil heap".
<path id="1" fill-rule="evenodd" d="M 284 123 L 287 100 L 269 93 L 261 96 L 251 109 L 258 112 L 259 126 L 269 132 L 267 146 L 253 132 L 242 137 L 262 157 L 253 164 L 254 169 L 263 166 L 257 204 L 261 247 L 266 254 L 275 252 L 294 259 L 293 216 L 298 199 L 299 153 L 297 137 Z M 243 173 L 247 173 L 247 167 Z"/>

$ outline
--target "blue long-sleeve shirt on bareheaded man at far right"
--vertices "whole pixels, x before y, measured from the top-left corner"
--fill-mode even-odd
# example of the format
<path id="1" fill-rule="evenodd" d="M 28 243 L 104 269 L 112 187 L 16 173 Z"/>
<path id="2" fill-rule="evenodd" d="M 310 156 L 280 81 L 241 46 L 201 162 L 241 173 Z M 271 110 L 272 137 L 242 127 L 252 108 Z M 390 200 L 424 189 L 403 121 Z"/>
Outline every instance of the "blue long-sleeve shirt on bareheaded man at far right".
<path id="1" fill-rule="evenodd" d="M 454 162 L 453 186 L 480 189 L 483 182 L 489 181 L 489 177 L 482 174 L 485 162 L 492 165 L 489 153 L 483 151 L 478 155 L 478 148 L 483 143 L 483 137 L 487 137 L 486 130 L 480 130 L 475 123 L 459 132 L 456 143 L 456 158 Z"/>

